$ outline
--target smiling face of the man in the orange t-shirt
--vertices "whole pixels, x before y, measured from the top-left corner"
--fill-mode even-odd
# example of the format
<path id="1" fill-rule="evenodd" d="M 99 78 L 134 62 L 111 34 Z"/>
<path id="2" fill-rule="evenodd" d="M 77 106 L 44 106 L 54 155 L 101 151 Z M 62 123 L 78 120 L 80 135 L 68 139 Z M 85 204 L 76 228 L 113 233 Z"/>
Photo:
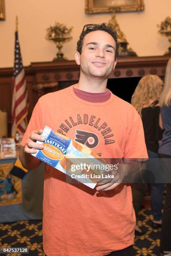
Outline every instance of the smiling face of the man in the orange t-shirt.
<path id="1" fill-rule="evenodd" d="M 115 69 L 116 44 L 112 36 L 105 31 L 92 31 L 83 40 L 82 53 L 76 53 L 75 59 L 84 74 L 107 78 Z"/>

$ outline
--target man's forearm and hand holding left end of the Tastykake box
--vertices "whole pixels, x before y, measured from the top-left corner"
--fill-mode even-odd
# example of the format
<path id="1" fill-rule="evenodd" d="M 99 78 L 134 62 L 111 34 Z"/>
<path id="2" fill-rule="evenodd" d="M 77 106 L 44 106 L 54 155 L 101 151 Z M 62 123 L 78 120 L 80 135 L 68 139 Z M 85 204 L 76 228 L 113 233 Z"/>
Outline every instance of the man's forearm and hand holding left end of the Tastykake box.
<path id="1" fill-rule="evenodd" d="M 24 168 L 32 170 L 37 168 L 41 164 L 41 160 L 32 156 L 36 153 L 36 149 L 43 149 L 43 145 L 37 144 L 36 141 L 44 141 L 45 138 L 41 136 L 43 130 L 33 131 L 29 136 L 26 145 L 21 148 L 19 153 L 20 161 Z"/>

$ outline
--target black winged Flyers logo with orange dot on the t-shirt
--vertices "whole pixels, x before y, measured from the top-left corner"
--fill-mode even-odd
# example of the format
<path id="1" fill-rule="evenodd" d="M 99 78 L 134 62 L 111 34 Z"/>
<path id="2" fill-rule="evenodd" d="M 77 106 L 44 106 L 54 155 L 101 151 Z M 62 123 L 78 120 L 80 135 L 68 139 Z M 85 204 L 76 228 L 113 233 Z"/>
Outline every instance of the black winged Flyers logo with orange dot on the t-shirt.
<path id="1" fill-rule="evenodd" d="M 76 130 L 75 141 L 78 141 L 89 148 L 95 148 L 99 144 L 99 138 L 95 133 L 80 130 Z"/>

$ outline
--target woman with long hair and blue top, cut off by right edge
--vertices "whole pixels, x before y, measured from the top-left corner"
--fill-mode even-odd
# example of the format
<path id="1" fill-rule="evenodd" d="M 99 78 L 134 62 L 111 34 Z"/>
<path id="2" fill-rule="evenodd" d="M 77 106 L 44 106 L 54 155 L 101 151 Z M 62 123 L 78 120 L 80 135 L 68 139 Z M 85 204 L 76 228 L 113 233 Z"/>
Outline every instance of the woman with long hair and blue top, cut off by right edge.
<path id="1" fill-rule="evenodd" d="M 158 153 L 166 182 L 166 200 L 161 226 L 161 255 L 171 256 L 171 59 L 166 67 L 160 107 L 164 132 Z"/>

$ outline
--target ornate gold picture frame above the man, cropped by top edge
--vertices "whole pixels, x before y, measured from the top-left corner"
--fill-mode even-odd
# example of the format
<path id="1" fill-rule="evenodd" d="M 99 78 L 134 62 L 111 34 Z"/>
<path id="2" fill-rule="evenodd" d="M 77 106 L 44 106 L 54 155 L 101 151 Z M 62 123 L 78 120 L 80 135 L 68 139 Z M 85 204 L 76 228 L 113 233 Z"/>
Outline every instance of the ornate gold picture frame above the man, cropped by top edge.
<path id="1" fill-rule="evenodd" d="M 143 0 L 85 0 L 85 12 L 91 13 L 113 13 L 132 12 L 144 10 Z"/>

